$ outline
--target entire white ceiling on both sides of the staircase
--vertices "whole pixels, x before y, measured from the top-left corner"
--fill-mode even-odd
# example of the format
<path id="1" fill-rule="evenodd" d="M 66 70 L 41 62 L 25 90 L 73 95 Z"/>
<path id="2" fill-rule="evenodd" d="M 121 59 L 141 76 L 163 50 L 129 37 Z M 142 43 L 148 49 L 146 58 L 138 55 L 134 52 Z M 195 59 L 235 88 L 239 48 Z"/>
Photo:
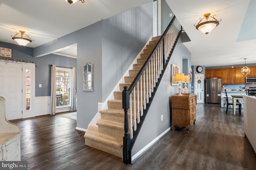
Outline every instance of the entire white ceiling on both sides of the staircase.
<path id="1" fill-rule="evenodd" d="M 68 4 L 64 0 L 0 0 L 0 41 L 14 43 L 18 30 L 30 34 L 37 47 L 66 34 L 104 20 L 152 0 L 85 0 Z M 256 63 L 256 0 L 166 0 L 191 42 L 184 45 L 192 65 L 206 67 Z M 194 24 L 204 14 L 222 19 L 208 35 Z M 58 51 L 76 55 L 76 47 Z M 75 52 L 75 54 L 74 54 Z"/>

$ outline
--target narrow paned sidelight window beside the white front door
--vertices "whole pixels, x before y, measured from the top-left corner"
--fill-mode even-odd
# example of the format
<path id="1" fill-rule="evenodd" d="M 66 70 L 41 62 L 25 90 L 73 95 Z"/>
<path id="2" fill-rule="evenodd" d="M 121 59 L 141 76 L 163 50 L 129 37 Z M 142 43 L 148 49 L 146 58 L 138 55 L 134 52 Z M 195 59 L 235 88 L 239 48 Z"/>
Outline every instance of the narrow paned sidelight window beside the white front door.
<path id="1" fill-rule="evenodd" d="M 26 111 L 31 106 L 31 69 L 26 69 Z"/>

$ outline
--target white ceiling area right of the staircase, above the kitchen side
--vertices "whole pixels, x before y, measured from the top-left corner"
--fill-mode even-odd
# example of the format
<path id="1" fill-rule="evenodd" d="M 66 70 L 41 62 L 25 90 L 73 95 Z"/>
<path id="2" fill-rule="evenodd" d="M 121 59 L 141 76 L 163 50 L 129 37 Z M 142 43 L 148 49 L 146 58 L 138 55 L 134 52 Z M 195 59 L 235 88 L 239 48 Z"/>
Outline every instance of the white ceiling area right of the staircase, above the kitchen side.
<path id="1" fill-rule="evenodd" d="M 191 42 L 192 65 L 206 67 L 256 63 L 256 0 L 166 0 Z M 250 3 L 250 5 L 249 5 Z M 222 21 L 208 35 L 194 24 L 211 13 Z"/>

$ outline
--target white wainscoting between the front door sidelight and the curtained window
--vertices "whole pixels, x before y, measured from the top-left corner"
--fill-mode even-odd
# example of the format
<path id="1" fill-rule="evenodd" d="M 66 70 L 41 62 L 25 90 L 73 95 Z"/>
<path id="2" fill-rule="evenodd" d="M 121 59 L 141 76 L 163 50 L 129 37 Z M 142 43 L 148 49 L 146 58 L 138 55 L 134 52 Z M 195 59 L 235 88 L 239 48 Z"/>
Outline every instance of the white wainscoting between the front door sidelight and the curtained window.
<path id="1" fill-rule="evenodd" d="M 34 116 L 49 115 L 50 114 L 50 96 L 36 97 L 36 108 Z"/>

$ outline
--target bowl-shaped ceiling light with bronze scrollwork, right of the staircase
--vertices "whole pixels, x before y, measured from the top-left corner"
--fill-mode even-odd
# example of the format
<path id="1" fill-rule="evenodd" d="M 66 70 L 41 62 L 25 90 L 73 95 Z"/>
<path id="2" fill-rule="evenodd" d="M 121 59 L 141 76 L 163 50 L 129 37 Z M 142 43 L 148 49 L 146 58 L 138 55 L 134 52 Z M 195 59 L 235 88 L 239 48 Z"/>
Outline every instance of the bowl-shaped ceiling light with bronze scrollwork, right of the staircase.
<path id="1" fill-rule="evenodd" d="M 216 16 L 216 15 L 214 15 Z M 217 27 L 220 24 L 221 19 L 218 21 L 214 16 L 210 16 L 210 13 L 204 14 L 204 18 L 199 18 L 198 24 L 194 24 L 197 30 L 200 30 L 204 34 L 208 34 L 211 32 L 215 27 Z M 208 19 L 212 18 L 214 20 L 208 21 Z M 203 19 L 206 19 L 205 22 L 200 23 Z"/>

